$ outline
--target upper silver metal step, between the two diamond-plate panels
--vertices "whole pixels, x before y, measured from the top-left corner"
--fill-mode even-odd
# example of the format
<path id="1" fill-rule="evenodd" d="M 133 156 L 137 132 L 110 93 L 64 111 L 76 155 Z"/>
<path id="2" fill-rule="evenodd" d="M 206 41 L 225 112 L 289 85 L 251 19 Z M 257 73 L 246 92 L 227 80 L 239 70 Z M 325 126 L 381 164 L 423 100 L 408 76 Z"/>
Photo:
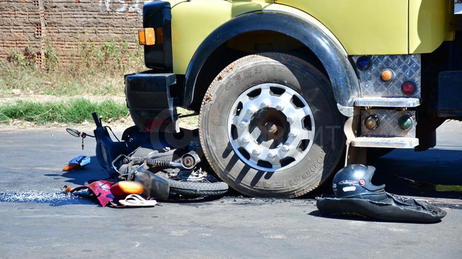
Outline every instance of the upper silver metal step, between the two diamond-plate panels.
<path id="1" fill-rule="evenodd" d="M 363 107 L 417 107 L 420 98 L 362 97 L 355 100 L 355 106 Z"/>

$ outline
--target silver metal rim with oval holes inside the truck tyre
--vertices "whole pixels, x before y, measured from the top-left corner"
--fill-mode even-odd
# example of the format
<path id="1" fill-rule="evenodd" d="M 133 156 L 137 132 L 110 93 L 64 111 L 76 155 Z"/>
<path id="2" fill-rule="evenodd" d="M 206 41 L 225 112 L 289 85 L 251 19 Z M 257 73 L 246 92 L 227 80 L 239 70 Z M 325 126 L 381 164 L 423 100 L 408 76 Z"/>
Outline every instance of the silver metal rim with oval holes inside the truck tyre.
<path id="1" fill-rule="evenodd" d="M 264 83 L 242 93 L 228 116 L 227 132 L 236 154 L 256 169 L 290 168 L 309 152 L 314 116 L 292 88 Z"/>

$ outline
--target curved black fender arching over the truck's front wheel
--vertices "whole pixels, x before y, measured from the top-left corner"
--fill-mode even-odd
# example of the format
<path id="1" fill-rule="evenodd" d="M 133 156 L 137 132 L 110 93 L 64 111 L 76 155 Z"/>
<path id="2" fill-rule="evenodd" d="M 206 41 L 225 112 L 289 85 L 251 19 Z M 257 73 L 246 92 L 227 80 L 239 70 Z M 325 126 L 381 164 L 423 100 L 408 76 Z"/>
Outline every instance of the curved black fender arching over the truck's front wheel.
<path id="1" fill-rule="evenodd" d="M 309 48 L 322 62 L 331 80 L 335 100 L 353 106 L 360 97 L 359 81 L 351 61 L 340 46 L 317 25 L 285 12 L 256 11 L 230 19 L 205 38 L 189 62 L 183 92 L 183 105 L 192 102 L 194 88 L 208 56 L 233 37 L 252 31 L 274 31 L 291 36 Z"/>

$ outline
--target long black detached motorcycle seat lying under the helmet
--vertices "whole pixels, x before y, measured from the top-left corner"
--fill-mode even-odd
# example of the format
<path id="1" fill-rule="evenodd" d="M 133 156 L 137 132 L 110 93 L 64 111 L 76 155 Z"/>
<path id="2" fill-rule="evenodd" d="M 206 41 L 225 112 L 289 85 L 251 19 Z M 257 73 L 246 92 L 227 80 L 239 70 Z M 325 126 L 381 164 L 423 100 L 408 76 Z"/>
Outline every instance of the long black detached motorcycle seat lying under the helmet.
<path id="1" fill-rule="evenodd" d="M 387 192 L 387 198 L 371 201 L 356 198 L 316 198 L 316 206 L 323 215 L 359 214 L 381 221 L 436 222 L 446 216 L 446 211 L 414 199 Z"/>

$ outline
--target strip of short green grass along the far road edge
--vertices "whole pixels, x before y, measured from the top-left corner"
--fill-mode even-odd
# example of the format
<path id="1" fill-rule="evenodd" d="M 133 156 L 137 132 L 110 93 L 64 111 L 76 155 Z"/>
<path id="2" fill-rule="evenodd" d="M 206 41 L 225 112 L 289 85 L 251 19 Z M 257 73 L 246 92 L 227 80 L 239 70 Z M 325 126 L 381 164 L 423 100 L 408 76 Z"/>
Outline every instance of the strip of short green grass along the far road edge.
<path id="1" fill-rule="evenodd" d="M 85 120 L 91 122 L 91 114 L 97 112 L 104 120 L 120 118 L 128 115 L 125 103 L 113 100 L 92 102 L 78 98 L 68 102 L 32 102 L 16 101 L 15 103 L 0 106 L 0 121 L 24 120 L 35 123 L 60 122 L 81 123 Z"/>

